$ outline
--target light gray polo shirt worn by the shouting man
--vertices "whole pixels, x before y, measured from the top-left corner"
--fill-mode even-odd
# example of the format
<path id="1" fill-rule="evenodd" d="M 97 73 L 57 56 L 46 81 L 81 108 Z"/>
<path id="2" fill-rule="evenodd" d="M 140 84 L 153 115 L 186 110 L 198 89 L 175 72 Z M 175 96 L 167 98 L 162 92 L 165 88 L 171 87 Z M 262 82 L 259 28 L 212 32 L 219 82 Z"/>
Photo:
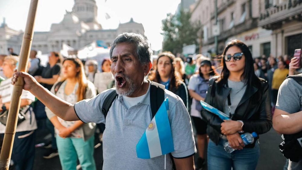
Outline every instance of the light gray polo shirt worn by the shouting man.
<path id="1" fill-rule="evenodd" d="M 104 99 L 113 90 L 115 89 L 111 88 L 92 99 L 76 103 L 74 108 L 78 117 L 85 123 L 105 123 L 101 107 Z M 165 97 L 169 98 L 169 121 L 175 149 L 172 156 L 191 156 L 196 153 L 196 148 L 188 111 L 177 95 L 165 90 Z M 128 110 L 126 108 L 122 96 L 119 95 L 108 111 L 103 133 L 103 169 L 164 169 L 164 156 L 140 159 L 136 154 L 136 145 L 152 120 L 150 86 L 140 103 Z M 169 155 L 166 160 L 167 169 L 172 169 Z"/>

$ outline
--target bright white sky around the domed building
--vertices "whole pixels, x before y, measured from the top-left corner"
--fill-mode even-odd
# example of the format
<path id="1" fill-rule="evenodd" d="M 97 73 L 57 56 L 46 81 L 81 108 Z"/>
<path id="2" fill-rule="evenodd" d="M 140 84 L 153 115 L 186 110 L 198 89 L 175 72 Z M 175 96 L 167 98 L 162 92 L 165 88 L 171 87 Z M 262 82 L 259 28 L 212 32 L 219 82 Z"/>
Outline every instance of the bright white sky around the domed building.
<path id="1" fill-rule="evenodd" d="M 24 30 L 30 0 L 0 0 L 0 23 L 5 17 L 8 27 Z M 103 29 L 116 29 L 119 23 L 130 21 L 142 23 L 145 35 L 153 50 L 162 48 L 162 19 L 167 13 L 175 13 L 180 0 L 96 0 L 98 22 Z M 72 11 L 74 0 L 39 0 L 34 31 L 49 31 L 52 23 L 63 20 Z M 111 18 L 106 20 L 105 13 Z"/>

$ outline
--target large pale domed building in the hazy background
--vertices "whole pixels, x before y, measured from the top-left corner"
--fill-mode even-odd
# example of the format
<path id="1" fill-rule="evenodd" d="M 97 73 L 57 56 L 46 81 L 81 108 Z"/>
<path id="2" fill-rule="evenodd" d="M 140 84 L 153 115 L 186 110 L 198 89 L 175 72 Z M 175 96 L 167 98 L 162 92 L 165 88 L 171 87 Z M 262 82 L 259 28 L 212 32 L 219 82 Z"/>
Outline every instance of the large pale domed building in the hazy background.
<path id="1" fill-rule="evenodd" d="M 52 24 L 50 31 L 34 32 L 32 49 L 40 50 L 42 53 L 60 51 L 65 43 L 77 50 L 95 41 L 102 41 L 102 44 L 109 46 L 115 37 L 123 32 L 142 35 L 145 33 L 143 25 L 134 22 L 133 18 L 127 23 L 120 23 L 117 29 L 102 29 L 97 21 L 98 7 L 95 0 L 75 0 L 74 2 L 72 11 L 66 11 L 63 20 Z M 0 27 L 0 35 L 3 35 L 2 31 L 5 31 L 6 39 L 2 40 L 3 37 L 0 37 L 0 47 L 3 46 L 4 50 L 11 47 L 19 53 L 23 33 L 7 26 L 4 26 L 4 29 Z M 5 52 L 0 48 L 0 53 Z"/>

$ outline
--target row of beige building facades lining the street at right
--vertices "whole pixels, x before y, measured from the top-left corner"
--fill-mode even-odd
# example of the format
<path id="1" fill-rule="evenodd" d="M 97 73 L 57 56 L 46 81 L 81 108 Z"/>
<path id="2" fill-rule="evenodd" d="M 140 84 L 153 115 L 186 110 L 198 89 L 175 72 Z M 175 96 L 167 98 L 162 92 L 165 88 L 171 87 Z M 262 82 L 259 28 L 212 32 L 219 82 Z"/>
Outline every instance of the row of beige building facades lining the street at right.
<path id="1" fill-rule="evenodd" d="M 288 9 L 288 4 L 291 2 L 294 5 Z M 299 2 L 301 1 L 217 0 L 217 27 L 220 32 L 218 53 L 223 52 L 228 41 L 239 39 L 249 46 L 253 57 L 263 54 L 267 57 L 270 54 L 275 57 L 291 55 L 294 52 L 292 48 L 298 46 L 301 48 L 302 42 L 302 4 Z M 282 13 L 280 13 L 281 8 L 283 8 Z M 201 21 L 203 25 L 198 35 L 199 52 L 204 55 L 215 52 L 213 35 L 216 25 L 215 1 L 199 0 L 191 12 L 191 21 Z M 292 44 L 295 44 L 295 47 Z"/>

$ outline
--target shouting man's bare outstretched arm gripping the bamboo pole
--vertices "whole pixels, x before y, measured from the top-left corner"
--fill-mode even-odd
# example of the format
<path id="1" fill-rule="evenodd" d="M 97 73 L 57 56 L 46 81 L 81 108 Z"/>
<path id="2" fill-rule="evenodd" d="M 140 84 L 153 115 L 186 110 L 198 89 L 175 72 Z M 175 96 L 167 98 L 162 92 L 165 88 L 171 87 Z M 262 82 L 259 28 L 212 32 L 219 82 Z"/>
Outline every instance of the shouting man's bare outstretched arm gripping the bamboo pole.
<path id="1" fill-rule="evenodd" d="M 33 76 L 26 72 L 15 72 L 11 84 L 14 85 L 17 82 L 18 77 L 24 77 L 24 90 L 30 91 L 34 96 L 36 96 L 46 107 L 48 107 L 54 114 L 63 120 L 74 121 L 79 120 L 76 112 L 73 108 L 73 104 L 70 104 L 56 95 L 52 94 L 42 85 L 40 85 Z"/>

